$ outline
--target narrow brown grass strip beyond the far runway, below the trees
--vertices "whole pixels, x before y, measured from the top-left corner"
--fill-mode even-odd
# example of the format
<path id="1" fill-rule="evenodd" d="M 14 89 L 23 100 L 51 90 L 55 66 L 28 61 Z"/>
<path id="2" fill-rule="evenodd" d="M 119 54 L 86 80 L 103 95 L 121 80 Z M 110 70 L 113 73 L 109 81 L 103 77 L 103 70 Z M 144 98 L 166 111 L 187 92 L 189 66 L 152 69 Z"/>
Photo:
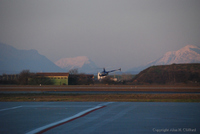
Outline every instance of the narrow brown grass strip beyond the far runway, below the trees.
<path id="1" fill-rule="evenodd" d="M 184 87 L 184 86 L 134 86 L 134 85 L 109 85 L 109 86 L 1 86 L 0 90 L 23 90 L 23 91 L 38 91 L 38 90 L 200 90 L 200 87 Z"/>

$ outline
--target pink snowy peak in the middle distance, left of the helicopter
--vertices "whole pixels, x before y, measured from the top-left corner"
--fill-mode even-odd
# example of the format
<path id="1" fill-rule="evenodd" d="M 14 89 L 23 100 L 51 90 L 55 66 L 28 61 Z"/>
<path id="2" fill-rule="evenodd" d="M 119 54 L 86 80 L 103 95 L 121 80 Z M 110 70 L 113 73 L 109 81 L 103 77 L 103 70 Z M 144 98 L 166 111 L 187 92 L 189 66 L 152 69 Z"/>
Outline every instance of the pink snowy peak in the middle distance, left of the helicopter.
<path id="1" fill-rule="evenodd" d="M 98 68 L 96 64 L 86 56 L 62 58 L 56 61 L 55 64 L 67 71 L 78 68 L 79 73 L 96 73 L 96 69 Z"/>

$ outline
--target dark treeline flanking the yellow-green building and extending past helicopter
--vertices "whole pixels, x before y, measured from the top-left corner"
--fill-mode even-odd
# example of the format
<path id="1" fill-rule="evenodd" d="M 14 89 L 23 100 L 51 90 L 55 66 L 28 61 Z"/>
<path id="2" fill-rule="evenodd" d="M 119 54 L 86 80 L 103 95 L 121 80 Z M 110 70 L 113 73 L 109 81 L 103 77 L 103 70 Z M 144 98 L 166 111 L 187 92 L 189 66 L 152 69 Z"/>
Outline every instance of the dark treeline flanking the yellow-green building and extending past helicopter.
<path id="1" fill-rule="evenodd" d="M 69 71 L 68 85 L 93 85 L 93 84 L 128 84 L 132 82 L 133 75 L 109 75 L 102 80 L 98 80 L 97 76 L 78 73 L 78 69 L 72 69 Z M 44 77 L 37 73 L 31 73 L 29 70 L 23 70 L 19 74 L 14 75 L 2 75 L 0 76 L 1 85 L 55 85 L 56 81 L 63 79 L 55 79 L 50 77 Z M 60 85 L 63 85 L 62 83 Z"/>

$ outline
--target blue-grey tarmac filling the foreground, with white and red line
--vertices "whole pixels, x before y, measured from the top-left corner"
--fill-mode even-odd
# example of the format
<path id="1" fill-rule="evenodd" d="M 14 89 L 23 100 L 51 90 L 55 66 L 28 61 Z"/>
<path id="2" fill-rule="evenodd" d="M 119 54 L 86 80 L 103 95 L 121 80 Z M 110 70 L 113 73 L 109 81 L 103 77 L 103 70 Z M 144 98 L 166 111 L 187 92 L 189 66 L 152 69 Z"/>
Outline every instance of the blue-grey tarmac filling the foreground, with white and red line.
<path id="1" fill-rule="evenodd" d="M 0 133 L 200 133 L 200 103 L 0 102 Z"/>

